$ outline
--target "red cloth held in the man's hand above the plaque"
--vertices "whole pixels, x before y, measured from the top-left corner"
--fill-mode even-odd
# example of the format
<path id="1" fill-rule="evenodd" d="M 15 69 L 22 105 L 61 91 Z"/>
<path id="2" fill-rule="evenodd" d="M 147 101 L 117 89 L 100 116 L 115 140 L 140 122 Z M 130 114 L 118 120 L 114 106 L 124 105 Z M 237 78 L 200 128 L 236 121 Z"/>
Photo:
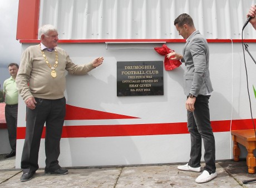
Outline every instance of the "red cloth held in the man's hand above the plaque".
<path id="1" fill-rule="evenodd" d="M 174 70 L 174 68 L 177 68 L 181 65 L 180 60 L 170 60 L 166 57 L 166 55 L 168 55 L 168 53 L 170 53 L 170 50 L 171 50 L 166 46 L 166 44 L 163 44 L 162 47 L 155 47 L 154 49 L 160 55 L 165 56 L 164 67 L 166 71 Z M 171 50 L 171 51 L 174 51 L 174 50 Z M 174 56 L 171 56 L 171 57 L 174 57 Z"/>

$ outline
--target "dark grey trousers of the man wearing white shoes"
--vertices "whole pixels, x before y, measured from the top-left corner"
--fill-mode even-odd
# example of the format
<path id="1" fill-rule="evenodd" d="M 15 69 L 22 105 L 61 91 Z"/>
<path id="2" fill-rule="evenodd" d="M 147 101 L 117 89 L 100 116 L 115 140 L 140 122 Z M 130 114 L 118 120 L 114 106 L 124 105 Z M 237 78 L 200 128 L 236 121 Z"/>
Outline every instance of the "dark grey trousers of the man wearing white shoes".
<path id="1" fill-rule="evenodd" d="M 210 174 L 216 171 L 215 166 L 215 139 L 210 125 L 209 111 L 210 96 L 198 95 L 195 101 L 194 112 L 188 111 L 188 130 L 191 138 L 189 166 L 199 167 L 201 160 L 202 138 L 204 142 L 204 170 Z"/>

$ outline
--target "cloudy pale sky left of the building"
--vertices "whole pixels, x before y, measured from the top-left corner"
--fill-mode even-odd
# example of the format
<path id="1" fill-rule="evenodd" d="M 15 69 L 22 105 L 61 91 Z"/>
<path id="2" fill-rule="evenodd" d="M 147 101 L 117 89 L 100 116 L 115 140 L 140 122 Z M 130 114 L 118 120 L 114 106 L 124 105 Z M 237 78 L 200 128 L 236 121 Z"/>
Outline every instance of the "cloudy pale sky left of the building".
<path id="1" fill-rule="evenodd" d="M 0 84 L 11 77 L 7 66 L 18 63 L 21 58 L 21 44 L 16 40 L 18 0 L 0 0 Z"/>

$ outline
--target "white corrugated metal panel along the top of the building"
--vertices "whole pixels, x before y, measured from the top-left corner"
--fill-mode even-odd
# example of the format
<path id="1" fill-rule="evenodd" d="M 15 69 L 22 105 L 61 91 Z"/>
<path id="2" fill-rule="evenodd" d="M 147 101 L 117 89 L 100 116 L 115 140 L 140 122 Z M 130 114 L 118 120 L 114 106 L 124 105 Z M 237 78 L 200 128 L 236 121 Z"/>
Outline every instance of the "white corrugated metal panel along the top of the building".
<path id="1" fill-rule="evenodd" d="M 53 24 L 60 39 L 175 39 L 181 13 L 206 38 L 240 39 L 253 0 L 41 0 L 39 27 Z M 244 38 L 256 38 L 250 24 Z"/>

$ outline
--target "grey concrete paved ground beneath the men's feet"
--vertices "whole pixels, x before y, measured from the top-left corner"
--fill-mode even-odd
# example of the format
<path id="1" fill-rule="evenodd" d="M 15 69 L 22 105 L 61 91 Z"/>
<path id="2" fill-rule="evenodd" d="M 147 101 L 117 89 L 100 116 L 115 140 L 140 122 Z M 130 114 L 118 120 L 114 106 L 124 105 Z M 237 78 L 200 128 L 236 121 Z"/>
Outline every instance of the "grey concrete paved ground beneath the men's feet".
<path id="1" fill-rule="evenodd" d="M 76 167 L 67 168 L 67 175 L 46 175 L 40 169 L 30 181 L 21 182 L 15 157 L 0 155 L 0 187 L 256 187 L 256 181 L 243 184 L 256 179 L 256 174 L 248 174 L 245 160 L 217 161 L 218 176 L 205 184 L 195 182 L 200 172 L 180 171 L 178 165 Z"/>

